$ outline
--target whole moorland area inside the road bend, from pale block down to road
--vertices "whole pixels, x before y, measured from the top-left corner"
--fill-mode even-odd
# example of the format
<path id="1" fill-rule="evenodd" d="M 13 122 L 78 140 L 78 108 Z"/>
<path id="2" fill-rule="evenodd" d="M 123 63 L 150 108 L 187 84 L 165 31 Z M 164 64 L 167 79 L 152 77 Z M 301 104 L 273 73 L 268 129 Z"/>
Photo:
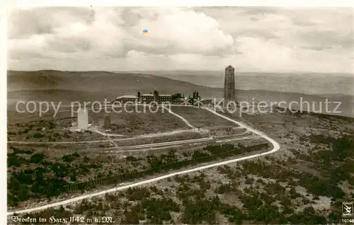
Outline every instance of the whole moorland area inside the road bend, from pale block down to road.
<path id="1" fill-rule="evenodd" d="M 192 110 L 188 115 L 200 115 L 202 111 L 206 110 Z M 40 120 L 35 120 L 33 115 L 26 117 L 21 114 L 14 122 L 10 120 L 16 118 L 16 113 L 11 111 L 8 117 L 8 206 L 17 209 L 30 207 L 33 202 L 44 204 L 69 195 L 110 188 L 127 180 L 266 151 L 270 147 L 260 137 L 243 139 L 251 135 L 244 134 L 243 129 L 237 136 L 239 139 L 229 140 L 233 137 L 229 135 L 217 144 L 207 134 L 186 129 L 185 122 L 167 110 L 156 113 L 110 113 L 111 125 L 120 130 L 117 132 L 113 129 L 110 133 L 135 135 L 109 137 L 103 135 L 104 116 L 105 113 L 90 112 L 91 127 L 80 132 L 73 129 L 76 115 L 72 116 L 71 112 L 61 111 L 55 117 L 45 114 Z M 207 116 L 213 116 L 210 120 L 215 117 L 219 119 L 208 113 L 202 117 L 203 121 L 207 121 Z M 217 120 L 220 123 L 225 121 Z M 173 135 L 160 135 L 164 132 Z M 208 139 L 200 143 L 178 142 L 163 147 L 129 148 L 139 144 L 203 137 Z"/>

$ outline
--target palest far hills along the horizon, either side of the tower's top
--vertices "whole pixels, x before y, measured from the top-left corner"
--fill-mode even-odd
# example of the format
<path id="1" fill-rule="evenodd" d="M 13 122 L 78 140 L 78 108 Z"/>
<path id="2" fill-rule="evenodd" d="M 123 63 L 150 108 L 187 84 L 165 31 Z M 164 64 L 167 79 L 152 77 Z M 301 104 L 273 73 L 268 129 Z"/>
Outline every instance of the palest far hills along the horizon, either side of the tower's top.
<path id="1" fill-rule="evenodd" d="M 186 81 L 212 88 L 224 86 L 224 70 L 219 71 L 130 71 Z M 354 96 L 354 74 L 310 72 L 245 72 L 235 71 L 235 88 L 239 90 L 268 90 L 305 94 L 342 94 Z"/>

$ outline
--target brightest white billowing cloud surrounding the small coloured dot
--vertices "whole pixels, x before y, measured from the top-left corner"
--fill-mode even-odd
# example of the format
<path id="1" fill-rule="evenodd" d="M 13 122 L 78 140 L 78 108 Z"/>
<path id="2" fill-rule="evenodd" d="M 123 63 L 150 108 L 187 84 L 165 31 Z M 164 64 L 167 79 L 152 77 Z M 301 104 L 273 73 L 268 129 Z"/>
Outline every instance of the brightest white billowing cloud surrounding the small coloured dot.
<path id="1" fill-rule="evenodd" d="M 232 36 L 220 30 L 219 23 L 204 13 L 186 8 L 135 8 L 125 16 L 130 24 L 126 45 L 132 50 L 154 54 L 233 53 Z M 144 28 L 149 30 L 148 35 L 141 35 Z"/>

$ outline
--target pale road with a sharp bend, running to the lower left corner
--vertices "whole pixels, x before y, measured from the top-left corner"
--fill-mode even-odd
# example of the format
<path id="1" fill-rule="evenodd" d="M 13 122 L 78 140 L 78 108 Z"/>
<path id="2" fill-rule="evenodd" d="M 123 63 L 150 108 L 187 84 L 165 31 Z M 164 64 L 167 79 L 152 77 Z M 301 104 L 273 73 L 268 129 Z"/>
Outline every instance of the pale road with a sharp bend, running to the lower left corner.
<path id="1" fill-rule="evenodd" d="M 94 192 L 94 193 L 91 193 L 91 194 L 86 194 L 86 195 L 82 195 L 82 196 L 79 196 L 79 197 L 74 197 L 74 198 L 71 198 L 69 200 L 64 200 L 64 201 L 61 201 L 61 202 L 54 202 L 54 203 L 51 203 L 51 204 L 45 204 L 43 206 L 33 207 L 33 208 L 30 208 L 30 209 L 22 209 L 22 210 L 18 210 L 18 211 L 15 211 L 15 212 L 17 214 L 21 214 L 21 213 L 35 212 L 35 211 L 38 211 L 38 210 L 48 209 L 48 208 L 52 208 L 52 207 L 58 207 L 58 206 L 61 206 L 61 205 L 64 205 L 64 204 L 69 204 L 69 203 L 72 203 L 72 202 L 77 202 L 77 201 L 80 201 L 80 200 L 84 200 L 86 198 L 95 197 L 95 196 L 98 196 L 98 195 L 105 195 L 106 193 L 116 192 L 116 191 L 119 191 L 119 190 L 125 190 L 127 188 L 133 188 L 133 187 L 137 187 L 139 185 L 146 185 L 148 183 L 153 183 L 153 182 L 156 182 L 156 181 L 159 181 L 159 180 L 163 180 L 163 179 L 166 179 L 166 178 L 171 178 L 171 177 L 173 177 L 175 175 L 181 175 L 181 174 L 185 174 L 185 173 L 192 173 L 192 172 L 195 172 L 195 171 L 202 171 L 202 170 L 205 170 L 207 168 L 213 168 L 213 167 L 216 167 L 216 166 L 222 166 L 222 165 L 226 165 L 226 164 L 229 164 L 229 163 L 235 163 L 235 162 L 238 162 L 238 161 L 244 161 L 244 160 L 247 160 L 247 159 L 250 159 L 250 158 L 257 158 L 259 156 L 265 156 L 265 155 L 268 155 L 268 154 L 273 154 L 273 153 L 275 153 L 275 151 L 278 151 L 280 149 L 280 145 L 278 144 L 278 142 L 275 142 L 275 140 L 273 140 L 270 137 L 268 137 L 267 135 L 263 134 L 263 132 L 260 132 L 260 131 L 258 131 L 256 129 L 253 129 L 252 127 L 249 127 L 248 125 L 245 125 L 242 122 L 237 122 L 236 120 L 232 120 L 229 117 L 221 115 L 221 114 L 219 114 L 219 113 L 217 113 L 214 110 L 211 110 L 209 108 L 204 108 L 204 109 L 210 111 L 211 113 L 214 113 L 215 115 L 218 115 L 219 117 L 224 118 L 225 120 L 229 120 L 231 122 L 234 122 L 235 124 L 237 124 L 237 125 L 239 125 L 241 127 L 246 127 L 246 129 L 249 129 L 251 132 L 260 135 L 264 139 L 268 140 L 268 142 L 273 144 L 273 149 L 271 149 L 270 151 L 267 151 L 267 152 L 263 152 L 261 154 L 254 154 L 254 155 L 251 155 L 251 156 L 244 156 L 244 157 L 241 157 L 241 158 L 234 158 L 234 159 L 230 159 L 230 160 L 227 160 L 227 161 L 222 161 L 222 162 L 219 162 L 219 163 L 212 163 L 212 164 L 205 165 L 205 166 L 199 166 L 199 167 L 196 167 L 196 168 L 191 168 L 191 169 L 188 169 L 188 170 L 185 170 L 185 171 L 178 171 L 178 172 L 174 172 L 174 173 L 169 173 L 169 174 L 161 175 L 159 177 L 152 178 L 152 179 L 149 179 L 149 180 L 143 180 L 143 181 L 139 181 L 137 183 L 131 183 L 131 184 L 128 184 L 128 185 L 123 185 L 123 186 L 117 187 L 117 188 L 111 188 L 111 189 L 108 189 L 108 190 L 103 190 L 101 192 Z M 14 212 L 7 212 L 7 215 L 11 215 L 13 213 Z"/>

